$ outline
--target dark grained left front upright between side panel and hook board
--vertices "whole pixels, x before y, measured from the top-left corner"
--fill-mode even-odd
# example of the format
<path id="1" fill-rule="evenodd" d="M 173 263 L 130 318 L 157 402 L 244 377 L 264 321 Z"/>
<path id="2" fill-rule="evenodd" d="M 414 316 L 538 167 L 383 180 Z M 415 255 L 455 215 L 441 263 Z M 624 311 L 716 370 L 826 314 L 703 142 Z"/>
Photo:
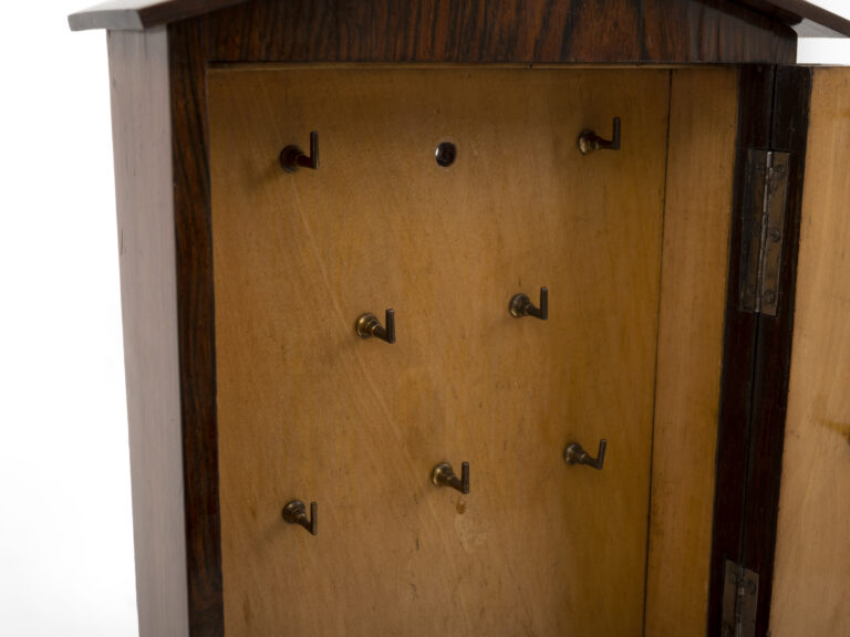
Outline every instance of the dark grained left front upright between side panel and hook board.
<path id="1" fill-rule="evenodd" d="M 199 22 L 172 24 L 168 45 L 189 631 L 222 635 L 206 61 Z"/>

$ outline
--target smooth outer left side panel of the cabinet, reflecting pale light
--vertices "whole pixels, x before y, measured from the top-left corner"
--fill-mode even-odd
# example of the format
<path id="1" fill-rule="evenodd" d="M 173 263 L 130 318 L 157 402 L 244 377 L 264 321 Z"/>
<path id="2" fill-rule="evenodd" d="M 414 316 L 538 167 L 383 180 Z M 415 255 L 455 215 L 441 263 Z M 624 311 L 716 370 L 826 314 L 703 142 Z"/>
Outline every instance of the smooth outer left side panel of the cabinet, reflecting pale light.
<path id="1" fill-rule="evenodd" d="M 165 29 L 108 34 L 139 634 L 188 635 Z"/>

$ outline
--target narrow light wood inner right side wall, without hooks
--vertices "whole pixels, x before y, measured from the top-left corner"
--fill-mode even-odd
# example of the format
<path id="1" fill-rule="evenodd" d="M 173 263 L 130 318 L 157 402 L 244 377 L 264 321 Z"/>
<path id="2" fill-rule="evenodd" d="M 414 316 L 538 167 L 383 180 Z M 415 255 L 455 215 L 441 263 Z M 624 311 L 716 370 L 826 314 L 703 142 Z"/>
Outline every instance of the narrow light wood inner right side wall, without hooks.
<path id="1" fill-rule="evenodd" d="M 672 74 L 646 637 L 705 633 L 737 72 Z"/>

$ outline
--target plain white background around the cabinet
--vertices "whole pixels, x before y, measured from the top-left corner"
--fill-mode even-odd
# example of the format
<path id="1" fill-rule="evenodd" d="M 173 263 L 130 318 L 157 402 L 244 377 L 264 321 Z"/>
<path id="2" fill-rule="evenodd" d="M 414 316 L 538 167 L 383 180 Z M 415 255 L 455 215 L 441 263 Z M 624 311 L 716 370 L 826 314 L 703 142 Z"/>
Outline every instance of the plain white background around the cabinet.
<path id="1" fill-rule="evenodd" d="M 81 2 L 3 7 L 0 637 L 137 634 L 106 38 L 68 30 Z M 799 52 L 850 64 L 850 41 Z"/>

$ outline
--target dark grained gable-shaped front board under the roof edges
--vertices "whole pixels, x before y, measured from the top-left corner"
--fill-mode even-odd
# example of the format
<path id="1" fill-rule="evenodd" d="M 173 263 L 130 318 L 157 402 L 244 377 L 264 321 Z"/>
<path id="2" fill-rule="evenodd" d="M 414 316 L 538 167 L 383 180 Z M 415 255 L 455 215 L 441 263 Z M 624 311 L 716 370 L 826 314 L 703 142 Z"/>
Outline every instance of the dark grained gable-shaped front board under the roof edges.
<path id="1" fill-rule="evenodd" d="M 792 64 L 797 52 L 786 24 L 725 0 L 253 0 L 201 19 L 217 62 Z"/>

